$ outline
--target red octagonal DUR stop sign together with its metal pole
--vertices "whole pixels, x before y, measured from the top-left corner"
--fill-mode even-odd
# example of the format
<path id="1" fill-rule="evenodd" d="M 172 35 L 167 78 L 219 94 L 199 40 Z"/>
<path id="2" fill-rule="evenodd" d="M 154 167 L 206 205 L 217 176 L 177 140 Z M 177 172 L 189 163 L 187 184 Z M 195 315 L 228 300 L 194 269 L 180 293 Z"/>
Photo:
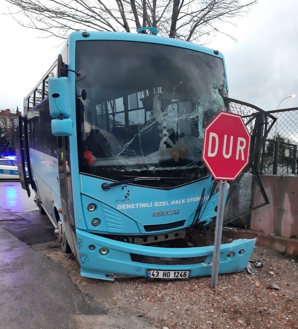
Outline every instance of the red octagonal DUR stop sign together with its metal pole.
<path id="1" fill-rule="evenodd" d="M 227 181 L 234 181 L 247 166 L 250 140 L 240 114 L 221 111 L 204 129 L 202 159 L 219 181 L 211 288 L 217 286 Z"/>

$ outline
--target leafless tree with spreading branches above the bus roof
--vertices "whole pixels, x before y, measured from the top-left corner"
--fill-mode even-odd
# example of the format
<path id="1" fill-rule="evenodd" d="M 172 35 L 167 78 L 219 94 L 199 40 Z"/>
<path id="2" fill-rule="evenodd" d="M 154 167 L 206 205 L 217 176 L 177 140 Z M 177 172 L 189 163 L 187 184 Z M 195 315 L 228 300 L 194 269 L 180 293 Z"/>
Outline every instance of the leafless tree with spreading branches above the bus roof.
<path id="1" fill-rule="evenodd" d="M 66 38 L 72 31 L 152 26 L 163 36 L 204 44 L 257 0 L 6 0 L 22 26 Z M 14 7 L 17 9 L 14 11 Z M 19 15 L 23 15 L 19 18 Z M 227 35 L 227 34 L 226 34 Z"/>

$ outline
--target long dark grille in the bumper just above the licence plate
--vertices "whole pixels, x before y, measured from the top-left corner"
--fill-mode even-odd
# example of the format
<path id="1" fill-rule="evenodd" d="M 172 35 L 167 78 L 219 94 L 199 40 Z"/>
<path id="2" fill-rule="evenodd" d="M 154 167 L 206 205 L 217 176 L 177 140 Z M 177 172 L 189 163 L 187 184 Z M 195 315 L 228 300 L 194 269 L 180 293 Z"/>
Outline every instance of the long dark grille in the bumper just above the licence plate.
<path id="1" fill-rule="evenodd" d="M 155 264 L 155 265 L 190 265 L 204 263 L 206 256 L 183 257 L 183 258 L 165 258 L 155 256 L 145 256 L 130 254 L 132 261 L 137 263 Z"/>

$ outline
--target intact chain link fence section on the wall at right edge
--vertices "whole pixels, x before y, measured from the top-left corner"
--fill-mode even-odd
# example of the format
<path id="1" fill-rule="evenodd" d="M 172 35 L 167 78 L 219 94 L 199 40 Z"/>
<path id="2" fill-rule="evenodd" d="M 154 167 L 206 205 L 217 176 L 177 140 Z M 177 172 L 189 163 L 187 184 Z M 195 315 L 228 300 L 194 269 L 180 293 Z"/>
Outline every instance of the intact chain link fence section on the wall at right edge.
<path id="1" fill-rule="evenodd" d="M 263 145 L 260 173 L 297 174 L 298 108 L 269 111 L 277 121 Z"/>

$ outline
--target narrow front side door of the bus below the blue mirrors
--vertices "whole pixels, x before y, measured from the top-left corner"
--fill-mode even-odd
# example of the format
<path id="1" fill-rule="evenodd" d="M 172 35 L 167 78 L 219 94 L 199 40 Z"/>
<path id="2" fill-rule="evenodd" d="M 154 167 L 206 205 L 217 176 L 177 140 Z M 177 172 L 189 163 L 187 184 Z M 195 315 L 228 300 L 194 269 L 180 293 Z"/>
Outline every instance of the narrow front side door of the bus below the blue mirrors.
<path id="1" fill-rule="evenodd" d="M 64 227 L 68 244 L 75 257 L 78 258 L 77 237 L 74 222 L 73 198 L 71 188 L 71 163 L 69 156 L 68 137 L 58 137 L 58 159 L 59 185 Z"/>

